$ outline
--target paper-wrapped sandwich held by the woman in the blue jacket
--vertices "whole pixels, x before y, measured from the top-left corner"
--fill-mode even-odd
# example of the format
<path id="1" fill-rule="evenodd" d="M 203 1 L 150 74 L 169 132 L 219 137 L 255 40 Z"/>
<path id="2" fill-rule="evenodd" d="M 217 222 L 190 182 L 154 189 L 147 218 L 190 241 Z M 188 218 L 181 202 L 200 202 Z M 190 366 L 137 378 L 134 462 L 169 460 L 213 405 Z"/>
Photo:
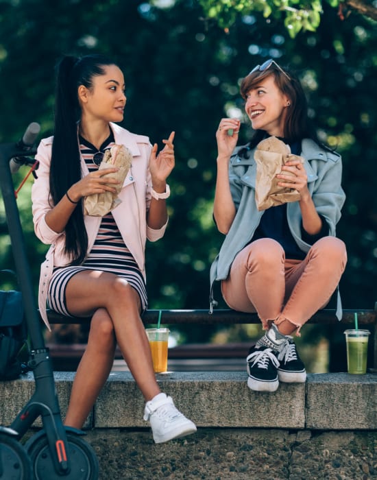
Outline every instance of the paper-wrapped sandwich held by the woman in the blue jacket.
<path id="1" fill-rule="evenodd" d="M 254 158 L 256 160 L 255 200 L 259 211 L 266 210 L 270 206 L 300 200 L 300 192 L 296 189 L 279 187 L 278 182 L 282 180 L 276 178 L 276 175 L 282 172 L 282 166 L 289 160 L 299 158 L 301 163 L 304 163 L 302 156 L 291 154 L 289 145 L 276 136 L 270 136 L 258 143 Z M 284 171 L 284 175 L 293 175 L 293 173 Z"/>

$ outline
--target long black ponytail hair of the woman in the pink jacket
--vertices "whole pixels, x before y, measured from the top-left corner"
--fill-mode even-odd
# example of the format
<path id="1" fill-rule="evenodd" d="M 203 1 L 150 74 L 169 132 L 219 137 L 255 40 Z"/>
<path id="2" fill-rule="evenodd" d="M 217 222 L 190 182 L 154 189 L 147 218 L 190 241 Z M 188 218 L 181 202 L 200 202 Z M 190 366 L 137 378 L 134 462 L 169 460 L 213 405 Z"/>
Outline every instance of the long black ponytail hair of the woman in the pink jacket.
<path id="1" fill-rule="evenodd" d="M 64 56 L 58 62 L 55 130 L 49 174 L 54 205 L 82 175 L 77 138 L 77 121 L 81 117 L 81 108 L 77 89 L 80 85 L 93 87 L 93 77 L 104 75 L 104 67 L 114 64 L 115 62 L 102 55 L 87 55 L 81 58 Z M 75 208 L 66 224 L 65 236 L 65 252 L 71 256 L 72 265 L 79 265 L 84 261 L 88 248 L 82 202 Z"/>

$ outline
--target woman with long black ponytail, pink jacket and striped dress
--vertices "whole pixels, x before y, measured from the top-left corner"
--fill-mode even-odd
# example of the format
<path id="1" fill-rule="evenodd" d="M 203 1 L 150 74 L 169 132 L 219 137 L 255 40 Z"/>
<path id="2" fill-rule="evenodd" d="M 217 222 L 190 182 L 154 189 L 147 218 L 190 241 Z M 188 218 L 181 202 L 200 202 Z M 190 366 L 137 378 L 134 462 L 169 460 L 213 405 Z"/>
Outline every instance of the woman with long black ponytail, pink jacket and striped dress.
<path id="1" fill-rule="evenodd" d="M 65 424 L 80 429 L 112 368 L 116 344 L 146 400 L 156 443 L 196 431 L 156 382 L 141 321 L 147 307 L 145 241 L 167 226 L 167 177 L 174 167 L 172 132 L 158 154 L 147 136 L 123 120 L 121 69 L 99 55 L 65 56 L 58 64 L 54 135 L 38 147 L 38 179 L 32 189 L 34 227 L 51 248 L 41 267 L 39 307 L 91 317 L 88 345 L 73 382 Z M 119 182 L 99 169 L 105 149 L 125 145 L 132 165 L 119 204 L 104 217 L 84 214 L 84 197 L 112 192 Z"/>

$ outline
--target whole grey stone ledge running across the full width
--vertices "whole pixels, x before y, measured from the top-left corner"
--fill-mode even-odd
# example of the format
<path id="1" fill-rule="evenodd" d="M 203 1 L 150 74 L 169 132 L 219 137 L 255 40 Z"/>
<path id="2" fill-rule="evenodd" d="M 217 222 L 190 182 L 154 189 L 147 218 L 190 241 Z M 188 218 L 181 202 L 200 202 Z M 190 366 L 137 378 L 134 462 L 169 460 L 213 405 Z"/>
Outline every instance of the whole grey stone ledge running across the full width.
<path id="1" fill-rule="evenodd" d="M 73 372 L 56 372 L 64 417 Z M 252 392 L 245 372 L 168 372 L 158 374 L 162 391 L 197 426 L 312 430 L 376 430 L 377 375 L 308 374 L 305 384 L 282 383 L 274 393 Z M 8 425 L 32 396 L 31 373 L 0 382 L 0 424 Z M 112 372 L 86 427 L 147 427 L 144 400 L 130 372 Z M 36 427 L 40 420 L 36 421 Z"/>

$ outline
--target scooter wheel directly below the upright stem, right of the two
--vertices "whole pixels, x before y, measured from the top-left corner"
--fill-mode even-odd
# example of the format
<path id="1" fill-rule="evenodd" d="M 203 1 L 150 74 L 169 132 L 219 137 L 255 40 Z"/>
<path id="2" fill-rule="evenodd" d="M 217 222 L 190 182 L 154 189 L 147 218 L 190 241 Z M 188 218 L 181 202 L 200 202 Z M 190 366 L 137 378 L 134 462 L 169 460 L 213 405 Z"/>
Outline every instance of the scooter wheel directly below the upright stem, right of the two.
<path id="1" fill-rule="evenodd" d="M 25 445 L 32 461 L 34 480 L 98 480 L 99 466 L 95 451 L 81 437 L 66 433 L 67 457 L 71 466 L 66 475 L 55 470 L 45 432 L 40 431 L 34 437 Z"/>

